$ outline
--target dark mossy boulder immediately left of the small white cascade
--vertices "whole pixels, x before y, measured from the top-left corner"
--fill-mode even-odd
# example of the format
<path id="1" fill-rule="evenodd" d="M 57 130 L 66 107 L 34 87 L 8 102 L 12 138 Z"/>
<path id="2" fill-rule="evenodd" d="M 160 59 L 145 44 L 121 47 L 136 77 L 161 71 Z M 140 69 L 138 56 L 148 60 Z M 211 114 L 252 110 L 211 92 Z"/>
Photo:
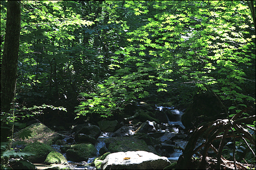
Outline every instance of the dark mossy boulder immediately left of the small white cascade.
<path id="1" fill-rule="evenodd" d="M 75 162 L 87 161 L 96 155 L 97 149 L 92 143 L 74 144 L 67 150 L 67 159 Z"/>

